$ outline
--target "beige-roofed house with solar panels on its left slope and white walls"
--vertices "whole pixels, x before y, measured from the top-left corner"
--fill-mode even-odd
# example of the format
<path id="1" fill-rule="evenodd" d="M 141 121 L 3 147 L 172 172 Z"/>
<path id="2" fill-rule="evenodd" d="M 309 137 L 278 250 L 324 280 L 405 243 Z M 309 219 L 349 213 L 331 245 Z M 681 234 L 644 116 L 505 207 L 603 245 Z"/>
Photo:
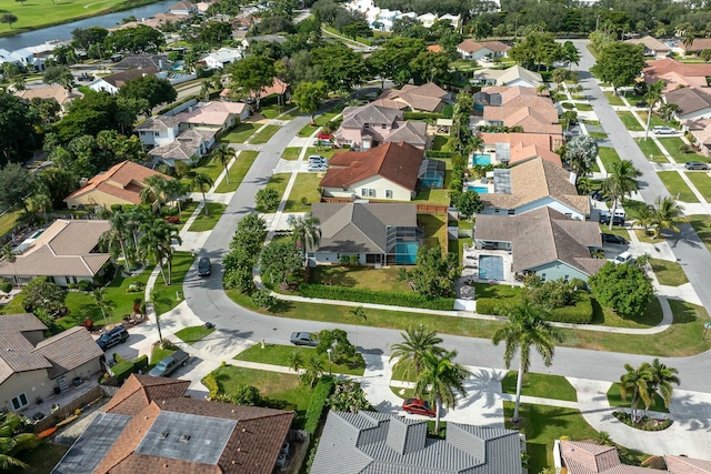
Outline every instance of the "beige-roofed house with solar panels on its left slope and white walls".
<path id="1" fill-rule="evenodd" d="M 574 173 L 550 161 L 534 158 L 493 173 L 493 193 L 480 194 L 482 214 L 518 215 L 548 206 L 578 220 L 590 215 L 590 198 L 578 195 Z"/>

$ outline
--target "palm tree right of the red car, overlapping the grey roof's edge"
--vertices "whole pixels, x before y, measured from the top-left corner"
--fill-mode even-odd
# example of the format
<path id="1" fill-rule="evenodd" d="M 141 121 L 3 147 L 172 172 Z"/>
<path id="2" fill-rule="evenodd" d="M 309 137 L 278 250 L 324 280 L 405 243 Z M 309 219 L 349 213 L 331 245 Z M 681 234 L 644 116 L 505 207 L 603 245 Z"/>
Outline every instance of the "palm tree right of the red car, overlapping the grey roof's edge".
<path id="1" fill-rule="evenodd" d="M 471 376 L 471 372 L 463 365 L 452 362 L 455 356 L 457 351 L 427 352 L 422 357 L 422 372 L 414 383 L 415 396 L 420 399 L 429 396 L 434 401 L 435 434 L 440 432 L 442 405 L 454 409 L 457 395 L 467 396 L 464 381 Z"/>

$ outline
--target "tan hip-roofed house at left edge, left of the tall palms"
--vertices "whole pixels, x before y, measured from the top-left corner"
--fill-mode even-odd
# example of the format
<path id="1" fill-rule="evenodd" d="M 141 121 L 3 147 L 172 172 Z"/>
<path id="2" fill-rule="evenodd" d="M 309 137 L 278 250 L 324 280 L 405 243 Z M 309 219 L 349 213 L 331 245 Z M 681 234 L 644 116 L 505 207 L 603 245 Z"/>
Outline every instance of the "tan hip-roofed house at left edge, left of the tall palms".
<path id="1" fill-rule="evenodd" d="M 47 276 L 59 286 L 93 282 L 110 260 L 99 251 L 101 234 L 110 228 L 108 221 L 59 219 L 16 246 L 14 262 L 1 260 L 0 276 L 13 285 L 28 284 L 37 276 Z"/>

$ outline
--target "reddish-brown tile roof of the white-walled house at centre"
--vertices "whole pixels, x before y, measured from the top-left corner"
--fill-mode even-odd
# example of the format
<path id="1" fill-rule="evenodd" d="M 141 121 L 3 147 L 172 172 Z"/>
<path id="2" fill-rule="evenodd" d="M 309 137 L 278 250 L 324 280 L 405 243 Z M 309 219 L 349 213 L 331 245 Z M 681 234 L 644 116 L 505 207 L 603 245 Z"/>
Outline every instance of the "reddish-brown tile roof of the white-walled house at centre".
<path id="1" fill-rule="evenodd" d="M 323 188 L 349 188 L 379 175 L 414 191 L 424 152 L 408 143 L 385 143 L 369 151 L 337 153 L 321 180 Z"/>

